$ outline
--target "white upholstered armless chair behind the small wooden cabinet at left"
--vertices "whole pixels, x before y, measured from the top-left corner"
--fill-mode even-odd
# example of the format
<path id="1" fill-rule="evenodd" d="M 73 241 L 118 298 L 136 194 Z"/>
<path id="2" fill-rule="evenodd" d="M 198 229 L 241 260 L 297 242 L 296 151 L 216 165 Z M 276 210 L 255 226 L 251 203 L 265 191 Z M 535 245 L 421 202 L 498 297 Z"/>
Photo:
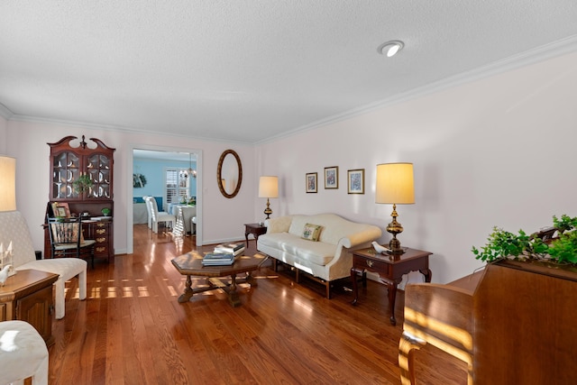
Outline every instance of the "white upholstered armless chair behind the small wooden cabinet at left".
<path id="1" fill-rule="evenodd" d="M 19 211 L 0 212 L 0 243 L 6 247 L 11 242 L 15 270 L 41 270 L 60 276 L 54 282 L 56 319 L 63 318 L 65 314 L 64 282 L 78 276 L 79 298 L 87 298 L 87 261 L 74 257 L 36 260 L 30 230 Z"/>

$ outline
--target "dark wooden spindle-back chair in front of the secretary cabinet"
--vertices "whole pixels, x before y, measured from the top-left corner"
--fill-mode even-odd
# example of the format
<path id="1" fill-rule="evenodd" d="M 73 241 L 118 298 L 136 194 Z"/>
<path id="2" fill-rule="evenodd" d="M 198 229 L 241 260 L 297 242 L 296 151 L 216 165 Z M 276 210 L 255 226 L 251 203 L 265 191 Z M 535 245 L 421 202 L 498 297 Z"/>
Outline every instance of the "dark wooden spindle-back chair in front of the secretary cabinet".
<path id="1" fill-rule="evenodd" d="M 48 218 L 52 258 L 74 256 L 90 257 L 94 269 L 94 249 L 96 241 L 84 239 L 82 217 Z"/>

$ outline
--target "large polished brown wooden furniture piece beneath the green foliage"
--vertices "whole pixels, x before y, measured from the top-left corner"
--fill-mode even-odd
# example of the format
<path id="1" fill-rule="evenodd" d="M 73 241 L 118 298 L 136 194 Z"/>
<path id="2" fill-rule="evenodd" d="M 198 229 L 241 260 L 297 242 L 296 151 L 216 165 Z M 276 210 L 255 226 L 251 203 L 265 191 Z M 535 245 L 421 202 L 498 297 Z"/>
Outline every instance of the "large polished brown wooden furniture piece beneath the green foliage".
<path id="1" fill-rule="evenodd" d="M 469 384 L 577 383 L 577 270 L 499 261 L 480 274 L 469 288 L 407 285 L 402 383 L 415 383 L 424 344 L 468 362 Z"/>

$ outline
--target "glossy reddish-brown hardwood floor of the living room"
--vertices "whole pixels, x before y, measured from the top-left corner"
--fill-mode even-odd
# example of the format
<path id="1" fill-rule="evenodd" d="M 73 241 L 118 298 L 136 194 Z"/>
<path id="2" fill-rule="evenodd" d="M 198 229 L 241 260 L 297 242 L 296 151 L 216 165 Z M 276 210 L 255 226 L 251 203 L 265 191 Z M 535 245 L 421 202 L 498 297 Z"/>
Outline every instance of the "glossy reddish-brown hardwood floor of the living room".
<path id="1" fill-rule="evenodd" d="M 170 260 L 193 249 L 191 237 L 151 239 L 135 225 L 133 254 L 88 268 L 86 301 L 78 301 L 78 281 L 67 282 L 50 384 L 400 383 L 402 291 L 392 326 L 383 285 L 370 281 L 353 307 L 346 280 L 328 300 L 321 285 L 295 284 L 267 261 L 255 271 L 257 288 L 241 285 L 241 307 L 220 291 L 179 304 L 185 277 Z M 462 362 L 429 346 L 416 354 L 420 383 L 466 383 Z"/>

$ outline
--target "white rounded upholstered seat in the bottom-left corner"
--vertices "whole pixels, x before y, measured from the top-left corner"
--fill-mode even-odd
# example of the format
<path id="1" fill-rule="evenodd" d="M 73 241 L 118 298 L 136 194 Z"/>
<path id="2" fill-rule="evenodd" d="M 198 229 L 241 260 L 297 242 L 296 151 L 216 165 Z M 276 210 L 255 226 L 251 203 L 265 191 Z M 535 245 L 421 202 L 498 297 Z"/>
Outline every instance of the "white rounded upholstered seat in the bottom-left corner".
<path id="1" fill-rule="evenodd" d="M 48 384 L 48 349 L 41 335 L 24 321 L 0 322 L 0 383 Z"/>

